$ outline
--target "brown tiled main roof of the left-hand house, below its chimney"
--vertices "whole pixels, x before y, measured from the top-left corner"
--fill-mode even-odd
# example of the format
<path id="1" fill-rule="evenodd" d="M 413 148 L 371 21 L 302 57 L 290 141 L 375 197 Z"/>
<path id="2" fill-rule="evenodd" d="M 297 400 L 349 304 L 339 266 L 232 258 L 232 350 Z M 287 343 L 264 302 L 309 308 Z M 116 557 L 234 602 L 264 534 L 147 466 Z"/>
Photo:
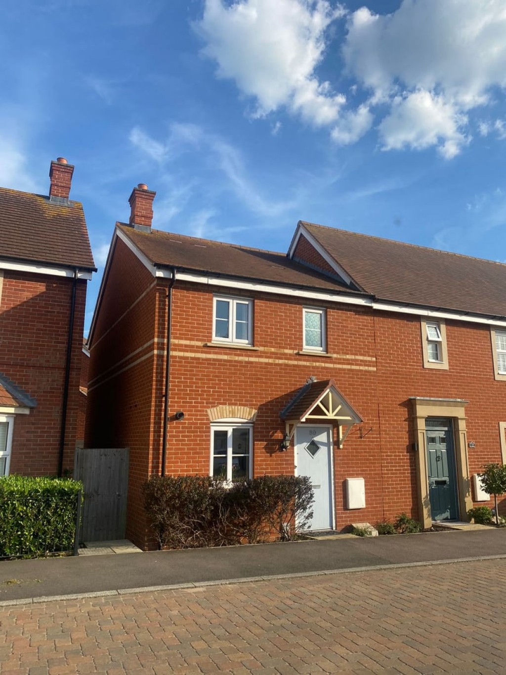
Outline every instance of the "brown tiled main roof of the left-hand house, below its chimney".
<path id="1" fill-rule="evenodd" d="M 0 257 L 95 269 L 82 205 L 0 188 Z"/>

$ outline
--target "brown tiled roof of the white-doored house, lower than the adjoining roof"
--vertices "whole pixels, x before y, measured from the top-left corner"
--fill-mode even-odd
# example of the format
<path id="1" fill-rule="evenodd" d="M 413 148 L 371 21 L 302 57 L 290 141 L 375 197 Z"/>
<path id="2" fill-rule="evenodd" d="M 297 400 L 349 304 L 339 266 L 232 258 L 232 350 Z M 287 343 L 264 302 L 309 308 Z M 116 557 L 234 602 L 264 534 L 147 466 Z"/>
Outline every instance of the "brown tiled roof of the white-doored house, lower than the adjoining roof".
<path id="1" fill-rule="evenodd" d="M 284 253 L 223 244 L 157 229 L 141 232 L 125 223 L 117 223 L 117 227 L 157 265 L 271 284 L 354 293 L 345 284 L 291 261 Z"/>

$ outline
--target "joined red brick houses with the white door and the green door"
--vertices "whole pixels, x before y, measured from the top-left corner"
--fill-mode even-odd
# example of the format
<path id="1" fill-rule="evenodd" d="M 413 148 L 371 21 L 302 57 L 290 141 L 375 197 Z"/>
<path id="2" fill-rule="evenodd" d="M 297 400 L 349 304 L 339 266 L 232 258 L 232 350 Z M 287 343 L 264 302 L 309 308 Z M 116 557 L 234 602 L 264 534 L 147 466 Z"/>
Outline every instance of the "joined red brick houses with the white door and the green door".
<path id="1" fill-rule="evenodd" d="M 86 443 L 152 474 L 309 475 L 314 529 L 461 520 L 506 458 L 506 265 L 298 223 L 287 254 L 152 229 L 134 188 L 90 332 Z"/>

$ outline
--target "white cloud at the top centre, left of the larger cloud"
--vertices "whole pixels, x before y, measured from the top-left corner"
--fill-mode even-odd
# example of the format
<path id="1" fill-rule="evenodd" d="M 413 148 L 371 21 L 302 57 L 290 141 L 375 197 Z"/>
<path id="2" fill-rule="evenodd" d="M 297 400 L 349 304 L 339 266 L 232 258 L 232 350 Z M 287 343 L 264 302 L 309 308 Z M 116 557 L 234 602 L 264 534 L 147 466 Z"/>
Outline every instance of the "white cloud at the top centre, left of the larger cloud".
<path id="1" fill-rule="evenodd" d="M 339 16 L 327 0 L 206 0 L 196 30 L 217 75 L 253 97 L 255 117 L 286 107 L 305 121 L 331 124 L 345 103 L 315 70 L 325 51 L 325 30 Z"/>

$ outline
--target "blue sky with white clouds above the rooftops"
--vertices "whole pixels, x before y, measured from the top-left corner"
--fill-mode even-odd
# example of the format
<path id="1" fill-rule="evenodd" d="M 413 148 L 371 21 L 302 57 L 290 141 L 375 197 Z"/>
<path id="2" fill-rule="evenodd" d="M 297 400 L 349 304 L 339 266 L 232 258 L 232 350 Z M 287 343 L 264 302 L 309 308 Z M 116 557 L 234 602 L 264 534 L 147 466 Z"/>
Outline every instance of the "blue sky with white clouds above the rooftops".
<path id="1" fill-rule="evenodd" d="M 504 0 L 3 0 L 0 185 L 75 165 L 99 272 L 153 226 L 286 252 L 298 220 L 506 262 Z"/>

